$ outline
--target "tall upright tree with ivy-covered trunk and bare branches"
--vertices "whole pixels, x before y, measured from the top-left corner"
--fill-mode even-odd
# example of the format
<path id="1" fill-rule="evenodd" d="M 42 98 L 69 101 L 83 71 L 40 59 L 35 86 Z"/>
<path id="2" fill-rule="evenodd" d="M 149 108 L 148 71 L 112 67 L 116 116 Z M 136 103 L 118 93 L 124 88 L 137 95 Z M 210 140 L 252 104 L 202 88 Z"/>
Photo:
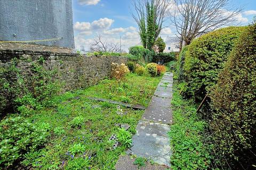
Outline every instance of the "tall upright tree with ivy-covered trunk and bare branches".
<path id="1" fill-rule="evenodd" d="M 140 30 L 143 47 L 151 49 L 158 38 L 163 23 L 168 16 L 171 0 L 132 0 L 135 13 L 132 13 Z"/>

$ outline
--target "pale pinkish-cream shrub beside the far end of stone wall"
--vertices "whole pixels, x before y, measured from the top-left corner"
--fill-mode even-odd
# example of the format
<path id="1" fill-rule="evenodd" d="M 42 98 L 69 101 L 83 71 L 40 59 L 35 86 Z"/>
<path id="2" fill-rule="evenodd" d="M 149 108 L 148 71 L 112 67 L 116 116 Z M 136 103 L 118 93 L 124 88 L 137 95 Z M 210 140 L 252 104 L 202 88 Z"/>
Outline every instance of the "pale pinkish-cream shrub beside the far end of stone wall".
<path id="1" fill-rule="evenodd" d="M 121 80 L 129 72 L 130 70 L 124 63 L 111 63 L 111 77 L 116 78 L 117 80 Z"/>

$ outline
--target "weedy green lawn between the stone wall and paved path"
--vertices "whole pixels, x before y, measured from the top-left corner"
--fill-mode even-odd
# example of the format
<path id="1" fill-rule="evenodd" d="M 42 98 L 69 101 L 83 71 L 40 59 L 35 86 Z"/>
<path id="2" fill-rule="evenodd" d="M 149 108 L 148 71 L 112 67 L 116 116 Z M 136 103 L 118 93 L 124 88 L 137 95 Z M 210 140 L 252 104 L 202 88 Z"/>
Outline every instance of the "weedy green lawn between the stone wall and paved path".
<path id="1" fill-rule="evenodd" d="M 35 169 L 114 169 L 118 156 L 129 146 L 127 139 L 127 143 L 121 143 L 121 146 L 113 149 L 114 143 L 109 141 L 110 136 L 124 134 L 115 124 L 128 123 L 131 126 L 129 132 L 134 134 L 143 111 L 122 106 L 118 109 L 116 105 L 93 101 L 87 97 L 147 106 L 160 79 L 130 73 L 121 82 L 106 79 L 85 90 L 66 92 L 53 98 L 55 107 L 22 116 L 25 122 L 44 129 L 48 135 L 45 131 L 44 135 L 33 133 L 37 135 L 35 139 L 47 136 L 47 142 L 39 149 L 30 148 L 27 154 L 26 149 L 18 152 L 21 154 L 18 160 L 22 161 L 22 165 L 33 165 Z M 74 98 L 77 96 L 80 98 Z M 123 115 L 118 115 L 117 111 Z M 17 116 L 11 114 L 7 117 Z M 3 128 L 8 129 L 8 124 L 3 125 Z M 17 128 L 19 123 L 13 129 Z M 9 130 L 11 133 L 11 128 Z"/>

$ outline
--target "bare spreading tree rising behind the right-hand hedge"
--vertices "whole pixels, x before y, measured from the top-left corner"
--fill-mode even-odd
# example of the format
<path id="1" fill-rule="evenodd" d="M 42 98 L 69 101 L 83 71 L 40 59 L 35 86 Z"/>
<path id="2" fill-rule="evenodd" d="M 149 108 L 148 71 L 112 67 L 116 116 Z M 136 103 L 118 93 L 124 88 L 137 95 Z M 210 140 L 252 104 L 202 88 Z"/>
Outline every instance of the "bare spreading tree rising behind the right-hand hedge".
<path id="1" fill-rule="evenodd" d="M 174 0 L 170 10 L 182 45 L 189 45 L 193 39 L 234 23 L 241 8 L 229 8 L 230 0 Z"/>

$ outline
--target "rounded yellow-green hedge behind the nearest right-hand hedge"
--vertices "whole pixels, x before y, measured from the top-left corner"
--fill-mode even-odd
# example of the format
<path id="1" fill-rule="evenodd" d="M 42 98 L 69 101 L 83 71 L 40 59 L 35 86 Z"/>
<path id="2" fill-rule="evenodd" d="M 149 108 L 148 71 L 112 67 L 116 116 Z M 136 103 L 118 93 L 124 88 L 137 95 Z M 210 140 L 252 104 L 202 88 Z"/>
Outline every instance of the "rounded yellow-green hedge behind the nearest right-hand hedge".
<path id="1" fill-rule="evenodd" d="M 245 27 L 222 28 L 195 39 L 186 52 L 184 71 L 188 97 L 202 101 L 217 83 L 227 57 Z"/>

